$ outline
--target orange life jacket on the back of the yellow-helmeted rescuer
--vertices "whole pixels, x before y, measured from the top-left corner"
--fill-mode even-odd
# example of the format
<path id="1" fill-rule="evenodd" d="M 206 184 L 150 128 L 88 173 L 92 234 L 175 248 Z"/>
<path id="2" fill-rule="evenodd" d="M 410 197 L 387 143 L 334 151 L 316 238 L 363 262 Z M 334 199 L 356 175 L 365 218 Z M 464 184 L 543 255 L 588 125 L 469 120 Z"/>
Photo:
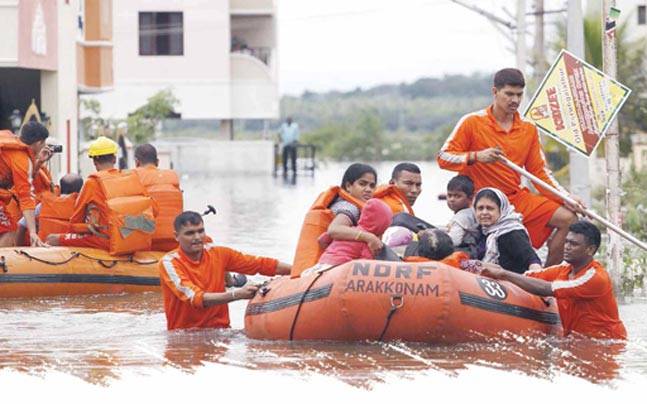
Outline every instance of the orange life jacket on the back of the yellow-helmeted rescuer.
<path id="1" fill-rule="evenodd" d="M 153 199 L 148 196 L 137 174 L 121 172 L 114 175 L 99 171 L 89 177 L 97 180 L 106 197 L 110 254 L 150 250 L 155 232 Z M 96 230 L 93 233 L 103 236 Z"/>

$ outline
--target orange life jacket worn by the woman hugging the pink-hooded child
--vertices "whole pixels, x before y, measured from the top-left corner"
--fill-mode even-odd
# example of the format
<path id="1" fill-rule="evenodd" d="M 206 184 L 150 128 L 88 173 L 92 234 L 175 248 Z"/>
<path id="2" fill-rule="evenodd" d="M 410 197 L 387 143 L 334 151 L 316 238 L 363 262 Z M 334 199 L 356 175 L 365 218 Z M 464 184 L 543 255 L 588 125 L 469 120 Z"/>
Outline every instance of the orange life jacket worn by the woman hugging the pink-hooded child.
<path id="1" fill-rule="evenodd" d="M 310 268 L 317 263 L 323 250 L 319 246 L 318 238 L 328 230 L 328 226 L 335 218 L 335 215 L 329 209 L 333 201 L 340 197 L 358 208 L 362 209 L 365 202 L 357 199 L 340 187 L 332 187 L 317 197 L 312 204 L 301 226 L 299 242 L 294 253 L 294 262 L 290 276 L 293 278 L 301 275 L 301 272 Z"/>

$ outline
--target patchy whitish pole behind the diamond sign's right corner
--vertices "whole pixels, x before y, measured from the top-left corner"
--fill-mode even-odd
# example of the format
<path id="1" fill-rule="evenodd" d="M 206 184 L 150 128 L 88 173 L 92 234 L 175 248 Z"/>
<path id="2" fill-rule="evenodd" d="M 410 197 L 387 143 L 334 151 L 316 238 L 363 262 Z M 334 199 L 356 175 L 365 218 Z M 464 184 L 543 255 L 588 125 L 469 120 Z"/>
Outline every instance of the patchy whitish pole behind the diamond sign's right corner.
<path id="1" fill-rule="evenodd" d="M 609 76 L 616 77 L 616 36 L 615 20 L 619 13 L 615 9 L 615 0 L 602 1 L 602 66 Z M 612 10 L 613 8 L 613 10 Z M 615 11 L 613 14 L 612 12 Z M 620 217 L 620 147 L 618 134 L 618 118 L 615 118 L 606 134 L 606 161 L 607 161 L 607 216 L 613 224 L 622 226 Z M 622 282 L 622 253 L 623 245 L 615 232 L 607 232 L 609 243 L 607 248 L 608 271 L 613 282 L 616 296 L 620 296 Z"/>

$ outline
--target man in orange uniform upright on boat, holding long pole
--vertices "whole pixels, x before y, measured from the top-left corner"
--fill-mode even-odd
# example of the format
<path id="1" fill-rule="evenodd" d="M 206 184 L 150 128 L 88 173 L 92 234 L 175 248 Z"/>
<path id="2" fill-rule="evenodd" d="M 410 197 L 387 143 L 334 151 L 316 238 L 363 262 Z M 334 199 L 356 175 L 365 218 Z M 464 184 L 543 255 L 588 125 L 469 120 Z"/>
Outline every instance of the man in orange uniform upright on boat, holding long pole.
<path id="1" fill-rule="evenodd" d="M 568 226 L 577 220 L 581 206 L 564 205 L 550 191 L 537 186 L 536 195 L 521 184 L 521 177 L 505 166 L 502 156 L 544 182 L 568 194 L 547 167 L 535 125 L 524 121 L 517 109 L 525 80 L 517 69 L 503 69 L 494 75 L 494 101 L 482 111 L 465 115 L 447 138 L 437 160 L 446 170 L 458 171 L 474 181 L 474 188 L 498 188 L 523 215 L 534 248 L 548 241 L 546 265 L 562 261 Z M 577 197 L 572 196 L 581 204 Z"/>

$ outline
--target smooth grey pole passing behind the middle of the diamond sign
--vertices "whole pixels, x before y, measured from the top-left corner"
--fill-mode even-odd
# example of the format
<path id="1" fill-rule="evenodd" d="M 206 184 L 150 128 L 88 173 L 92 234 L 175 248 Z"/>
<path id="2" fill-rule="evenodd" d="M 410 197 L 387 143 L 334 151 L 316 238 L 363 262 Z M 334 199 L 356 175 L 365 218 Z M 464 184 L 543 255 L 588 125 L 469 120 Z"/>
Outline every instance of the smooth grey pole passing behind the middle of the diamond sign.
<path id="1" fill-rule="evenodd" d="M 575 56 L 584 59 L 584 20 L 581 0 L 568 0 L 566 47 Z M 569 177 L 571 192 L 591 206 L 591 181 L 589 159 L 574 150 L 569 150 Z"/>

